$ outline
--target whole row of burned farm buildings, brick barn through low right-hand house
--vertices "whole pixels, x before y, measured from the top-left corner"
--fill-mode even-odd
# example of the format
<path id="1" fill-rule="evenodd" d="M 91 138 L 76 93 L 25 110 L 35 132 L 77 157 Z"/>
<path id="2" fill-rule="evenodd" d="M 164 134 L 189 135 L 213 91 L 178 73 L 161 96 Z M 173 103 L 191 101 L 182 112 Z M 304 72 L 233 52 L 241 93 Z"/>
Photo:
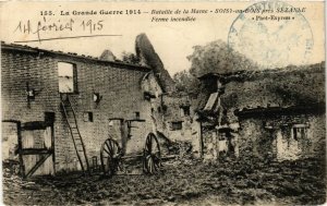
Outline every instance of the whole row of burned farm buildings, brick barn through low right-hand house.
<path id="1" fill-rule="evenodd" d="M 2 43 L 3 159 L 31 177 L 105 170 L 106 147 L 137 157 L 149 143 L 210 160 L 325 156 L 324 62 L 207 73 L 194 98 L 175 92 L 146 35 L 135 48 L 120 61 Z"/>

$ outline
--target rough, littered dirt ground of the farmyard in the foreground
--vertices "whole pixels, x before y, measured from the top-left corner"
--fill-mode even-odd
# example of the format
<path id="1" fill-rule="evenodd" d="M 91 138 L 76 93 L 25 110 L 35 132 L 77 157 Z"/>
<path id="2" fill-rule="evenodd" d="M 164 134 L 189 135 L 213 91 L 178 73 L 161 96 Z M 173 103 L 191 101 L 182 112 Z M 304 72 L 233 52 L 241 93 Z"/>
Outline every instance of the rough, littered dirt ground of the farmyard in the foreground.
<path id="1" fill-rule="evenodd" d="M 173 159 L 159 174 L 61 174 L 22 180 L 3 167 L 7 205 L 319 205 L 325 161 Z"/>

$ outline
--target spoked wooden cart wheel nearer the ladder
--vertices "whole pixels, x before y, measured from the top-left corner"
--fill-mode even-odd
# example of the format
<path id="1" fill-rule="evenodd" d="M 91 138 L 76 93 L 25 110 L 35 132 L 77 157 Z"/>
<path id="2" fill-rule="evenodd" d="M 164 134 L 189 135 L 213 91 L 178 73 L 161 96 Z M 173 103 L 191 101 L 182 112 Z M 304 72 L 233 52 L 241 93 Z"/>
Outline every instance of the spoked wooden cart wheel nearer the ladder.
<path id="1" fill-rule="evenodd" d="M 111 177 L 117 172 L 121 156 L 121 149 L 117 141 L 107 138 L 100 150 L 101 168 L 105 175 Z"/>

